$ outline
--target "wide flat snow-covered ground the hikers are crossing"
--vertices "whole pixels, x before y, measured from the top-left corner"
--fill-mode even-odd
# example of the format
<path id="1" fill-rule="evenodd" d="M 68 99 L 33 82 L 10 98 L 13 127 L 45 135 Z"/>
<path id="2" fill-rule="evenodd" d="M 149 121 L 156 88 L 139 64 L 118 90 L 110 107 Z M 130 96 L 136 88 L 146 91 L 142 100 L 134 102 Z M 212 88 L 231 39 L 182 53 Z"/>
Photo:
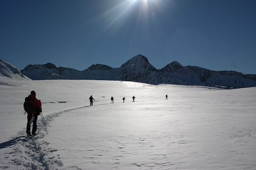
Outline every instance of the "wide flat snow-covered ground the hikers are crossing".
<path id="1" fill-rule="evenodd" d="M 38 135 L 26 139 L 23 102 L 31 90 L 49 134 L 38 118 Z M 256 167 L 255 87 L 0 77 L 0 93 L 2 169 Z"/>

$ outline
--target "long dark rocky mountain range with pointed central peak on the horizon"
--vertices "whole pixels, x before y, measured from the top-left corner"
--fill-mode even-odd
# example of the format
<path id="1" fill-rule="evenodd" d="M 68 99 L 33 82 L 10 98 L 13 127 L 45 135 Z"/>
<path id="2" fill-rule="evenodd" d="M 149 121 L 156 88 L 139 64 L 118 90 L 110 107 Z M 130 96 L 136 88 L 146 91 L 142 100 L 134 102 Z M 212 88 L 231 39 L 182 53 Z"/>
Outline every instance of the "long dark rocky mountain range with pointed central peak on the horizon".
<path id="1" fill-rule="evenodd" d="M 137 55 L 119 68 L 103 64 L 92 64 L 83 71 L 56 67 L 54 64 L 28 65 L 21 70 L 32 80 L 46 79 L 86 79 L 124 80 L 148 84 L 207 85 L 226 88 L 256 86 L 256 75 L 236 71 L 212 71 L 198 66 L 182 66 L 177 61 L 156 69 L 148 59 Z"/>

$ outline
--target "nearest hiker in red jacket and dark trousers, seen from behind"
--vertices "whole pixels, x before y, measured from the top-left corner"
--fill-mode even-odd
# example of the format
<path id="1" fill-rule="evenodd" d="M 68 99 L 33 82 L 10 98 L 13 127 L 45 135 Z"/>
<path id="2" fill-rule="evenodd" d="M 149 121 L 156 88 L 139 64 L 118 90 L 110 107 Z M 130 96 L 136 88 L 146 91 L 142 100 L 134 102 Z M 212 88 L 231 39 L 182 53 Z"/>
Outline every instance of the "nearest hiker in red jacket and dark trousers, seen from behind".
<path id="1" fill-rule="evenodd" d="M 31 136 L 30 134 L 30 125 L 33 122 L 33 128 L 32 128 L 32 135 L 36 135 L 36 121 L 38 115 L 40 115 L 40 112 L 42 112 L 42 104 L 41 101 L 36 98 L 36 92 L 33 90 L 30 92 L 30 95 L 28 96 L 30 103 L 32 104 L 32 109 L 30 111 L 27 111 L 28 113 L 28 123 L 26 128 L 27 136 Z M 25 109 L 25 106 L 24 106 Z"/>

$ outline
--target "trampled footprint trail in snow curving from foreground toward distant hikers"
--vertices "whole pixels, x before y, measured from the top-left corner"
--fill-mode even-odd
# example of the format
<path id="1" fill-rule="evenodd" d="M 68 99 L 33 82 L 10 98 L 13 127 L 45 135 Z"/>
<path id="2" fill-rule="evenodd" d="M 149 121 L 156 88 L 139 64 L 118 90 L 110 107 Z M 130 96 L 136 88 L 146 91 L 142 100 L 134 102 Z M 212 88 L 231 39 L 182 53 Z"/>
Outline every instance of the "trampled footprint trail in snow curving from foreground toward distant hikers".
<path id="1" fill-rule="evenodd" d="M 150 100 L 143 100 L 143 101 L 136 101 L 136 102 L 144 102 L 144 101 L 150 101 Z M 122 103 L 122 102 L 117 102 L 116 104 L 118 103 Z M 129 103 L 129 102 L 126 102 L 126 103 Z M 107 103 L 107 104 L 111 104 L 111 103 Z M 107 104 L 97 104 L 94 106 L 107 105 Z M 63 113 L 67 113 L 76 109 L 82 109 L 85 107 L 91 107 L 91 106 L 82 106 L 82 107 L 76 107 L 72 109 L 66 109 L 66 110 L 52 113 L 45 116 L 44 121 L 46 123 L 47 129 L 48 127 L 50 127 L 50 125 L 52 124 L 52 121 L 54 121 L 56 117 L 59 117 Z M 46 132 L 43 127 L 44 125 L 42 123 L 42 118 L 39 115 L 37 120 L 36 136 L 34 137 L 24 136 L 24 134 L 26 133 L 26 128 L 24 128 L 22 131 L 18 132 L 15 138 L 10 140 L 10 143 L 13 142 L 13 145 L 11 144 L 12 150 L 10 152 L 6 152 L 8 156 L 6 156 L 5 158 L 10 159 L 10 163 L 17 166 L 18 170 L 23 170 L 24 167 L 26 168 L 26 170 L 52 170 L 52 169 L 56 169 L 56 167 L 63 166 L 61 160 L 59 160 L 60 158 L 56 158 L 55 156 L 52 156 L 52 152 L 56 152 L 57 149 L 48 147 L 49 143 L 47 141 L 44 141 L 44 136 L 46 135 Z M 122 149 L 122 147 L 120 147 L 120 149 Z M 136 165 L 136 166 L 141 166 L 141 165 Z M 9 167 L 0 166 L 0 168 L 6 169 Z M 81 169 L 78 167 L 72 166 L 72 167 L 63 168 L 62 170 L 81 170 Z"/>

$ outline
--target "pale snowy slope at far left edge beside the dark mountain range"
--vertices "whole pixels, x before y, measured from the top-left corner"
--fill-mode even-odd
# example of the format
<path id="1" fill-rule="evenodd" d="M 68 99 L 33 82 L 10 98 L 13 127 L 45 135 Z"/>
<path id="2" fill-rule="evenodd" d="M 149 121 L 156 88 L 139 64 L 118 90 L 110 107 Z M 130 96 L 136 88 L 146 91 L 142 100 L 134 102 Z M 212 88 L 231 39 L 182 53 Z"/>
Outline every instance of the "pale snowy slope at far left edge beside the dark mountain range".
<path id="1" fill-rule="evenodd" d="M 10 63 L 6 63 L 1 59 L 0 59 L 0 76 L 30 80 L 30 78 L 22 74 L 22 72 L 20 72 L 18 68 L 16 68 Z"/>

